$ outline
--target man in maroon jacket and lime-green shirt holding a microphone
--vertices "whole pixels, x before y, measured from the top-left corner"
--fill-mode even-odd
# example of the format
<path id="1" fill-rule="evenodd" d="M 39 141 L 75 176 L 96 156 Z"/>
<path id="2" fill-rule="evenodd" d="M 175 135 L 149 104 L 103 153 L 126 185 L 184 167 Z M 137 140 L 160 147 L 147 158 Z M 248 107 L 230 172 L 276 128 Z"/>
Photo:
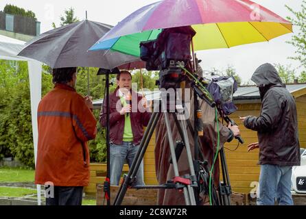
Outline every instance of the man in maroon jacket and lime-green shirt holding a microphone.
<path id="1" fill-rule="evenodd" d="M 132 75 L 127 70 L 117 75 L 117 85 L 110 94 L 110 185 L 119 185 L 124 162 L 132 165 L 143 137 L 143 127 L 148 125 L 151 116 L 150 108 L 143 104 L 143 96 L 132 91 Z M 106 103 L 99 122 L 106 126 Z M 135 183 L 143 185 L 143 161 L 136 177 Z"/>

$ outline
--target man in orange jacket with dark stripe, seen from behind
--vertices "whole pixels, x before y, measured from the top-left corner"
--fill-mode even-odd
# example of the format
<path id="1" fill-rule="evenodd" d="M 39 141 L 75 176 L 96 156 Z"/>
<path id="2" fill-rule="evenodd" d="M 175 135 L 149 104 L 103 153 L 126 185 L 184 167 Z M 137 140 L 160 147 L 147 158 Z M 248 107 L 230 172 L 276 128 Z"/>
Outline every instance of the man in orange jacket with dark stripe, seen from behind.
<path id="1" fill-rule="evenodd" d="M 93 103 L 75 91 L 77 68 L 55 68 L 54 89 L 38 105 L 35 183 L 46 205 L 82 205 L 89 183 L 89 146 L 97 133 Z"/>

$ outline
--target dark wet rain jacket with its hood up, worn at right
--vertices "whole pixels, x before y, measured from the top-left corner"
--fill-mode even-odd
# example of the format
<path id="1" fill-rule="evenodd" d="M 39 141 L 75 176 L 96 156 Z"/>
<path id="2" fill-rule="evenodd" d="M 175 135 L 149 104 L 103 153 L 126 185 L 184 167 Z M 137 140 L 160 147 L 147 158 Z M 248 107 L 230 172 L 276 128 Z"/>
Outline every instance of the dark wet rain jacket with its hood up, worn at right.
<path id="1" fill-rule="evenodd" d="M 301 155 L 294 97 L 271 64 L 259 66 L 251 80 L 259 87 L 261 113 L 259 117 L 246 118 L 244 125 L 257 131 L 259 164 L 299 166 Z"/>

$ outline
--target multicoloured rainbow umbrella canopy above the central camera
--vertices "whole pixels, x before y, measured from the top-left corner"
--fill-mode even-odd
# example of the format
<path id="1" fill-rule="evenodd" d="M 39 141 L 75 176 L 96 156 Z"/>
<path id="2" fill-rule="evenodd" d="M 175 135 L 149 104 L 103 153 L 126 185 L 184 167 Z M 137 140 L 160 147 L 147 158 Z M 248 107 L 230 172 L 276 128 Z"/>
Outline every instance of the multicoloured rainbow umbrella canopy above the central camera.
<path id="1" fill-rule="evenodd" d="M 161 29 L 183 26 L 196 31 L 195 50 L 263 42 L 292 32 L 289 21 L 252 1 L 164 0 L 124 18 L 90 50 L 110 49 L 139 56 L 141 41 L 156 39 Z"/>

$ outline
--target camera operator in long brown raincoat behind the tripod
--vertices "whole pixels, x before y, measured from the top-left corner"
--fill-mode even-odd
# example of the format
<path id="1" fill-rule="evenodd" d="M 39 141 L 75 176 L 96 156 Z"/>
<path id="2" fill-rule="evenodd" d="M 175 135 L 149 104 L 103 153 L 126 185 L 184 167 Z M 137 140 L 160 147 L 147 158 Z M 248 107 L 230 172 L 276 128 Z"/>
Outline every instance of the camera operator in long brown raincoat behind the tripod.
<path id="1" fill-rule="evenodd" d="M 198 73 L 201 73 L 201 69 L 198 68 Z M 189 88 L 187 83 L 187 88 Z M 185 89 L 188 90 L 188 89 Z M 192 89 L 190 89 L 191 92 L 191 99 L 185 100 L 185 102 L 190 101 L 191 109 L 190 109 L 190 122 L 191 126 L 193 126 L 194 121 L 194 115 L 193 115 L 193 92 Z M 215 121 L 215 108 L 211 107 L 207 102 L 203 101 L 202 99 L 198 99 L 200 109 L 202 110 L 202 122 L 203 122 L 203 132 L 204 135 L 200 137 L 200 150 L 202 151 L 204 155 L 204 159 L 208 161 L 208 168 L 211 169 L 211 166 L 213 165 L 213 158 L 215 153 L 217 153 L 217 132 L 220 132 L 220 147 L 224 146 L 225 142 L 231 142 L 235 136 L 239 135 L 239 127 L 237 125 L 230 125 L 224 126 L 220 122 L 220 120 L 217 120 L 217 123 L 219 123 L 219 130 L 217 130 L 217 125 Z M 169 116 L 170 119 L 170 127 L 172 127 L 172 136 L 174 142 L 180 138 L 178 134 L 178 129 L 175 125 L 174 119 L 172 116 Z M 192 127 L 193 130 L 194 127 Z M 156 125 L 156 148 L 155 148 L 155 166 L 156 166 L 156 176 L 158 179 L 159 184 L 164 184 L 169 179 L 173 179 L 174 177 L 174 169 L 172 164 L 169 163 L 169 156 L 170 156 L 170 150 L 169 150 L 169 142 L 167 139 L 167 129 L 165 125 L 165 118 L 162 114 L 161 118 L 158 120 L 158 123 Z M 193 136 L 191 135 L 191 132 L 189 131 L 189 128 L 187 130 L 188 138 L 189 138 L 189 144 L 191 147 L 191 152 L 194 152 L 194 142 L 193 142 Z M 178 171 L 179 175 L 183 176 L 186 174 L 189 174 L 189 164 L 187 162 L 187 153 L 186 150 L 183 149 L 183 152 L 180 155 L 180 158 L 178 159 Z M 215 188 L 219 186 L 219 162 L 218 159 L 215 162 L 214 165 L 214 172 L 213 172 L 213 183 L 215 185 Z M 202 197 L 202 205 L 206 205 L 209 203 L 209 198 L 204 196 Z M 158 190 L 158 203 L 157 205 L 185 205 L 185 198 L 183 195 L 183 192 L 179 192 L 178 190 Z"/>

